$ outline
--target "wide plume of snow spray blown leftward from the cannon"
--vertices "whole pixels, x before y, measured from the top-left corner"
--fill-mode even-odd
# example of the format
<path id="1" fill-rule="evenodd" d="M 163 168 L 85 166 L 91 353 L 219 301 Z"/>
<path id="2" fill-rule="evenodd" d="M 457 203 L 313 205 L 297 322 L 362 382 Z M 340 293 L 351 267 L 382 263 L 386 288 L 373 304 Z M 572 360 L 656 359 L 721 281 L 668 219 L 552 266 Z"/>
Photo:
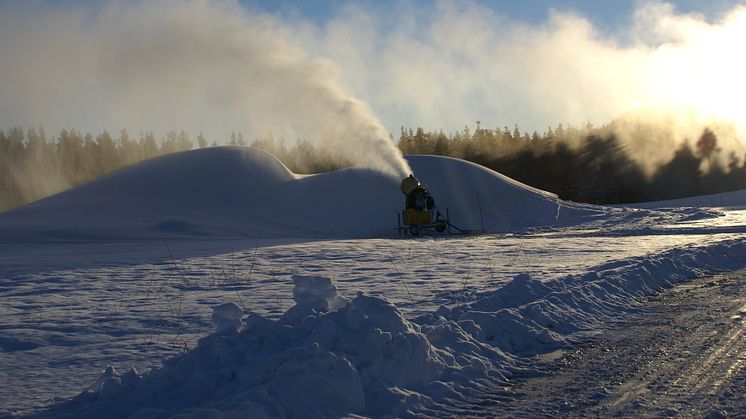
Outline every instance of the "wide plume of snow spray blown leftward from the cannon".
<path id="1" fill-rule="evenodd" d="M 235 1 L 0 4 L 0 124 L 304 139 L 397 178 L 372 111 L 277 18 Z"/>

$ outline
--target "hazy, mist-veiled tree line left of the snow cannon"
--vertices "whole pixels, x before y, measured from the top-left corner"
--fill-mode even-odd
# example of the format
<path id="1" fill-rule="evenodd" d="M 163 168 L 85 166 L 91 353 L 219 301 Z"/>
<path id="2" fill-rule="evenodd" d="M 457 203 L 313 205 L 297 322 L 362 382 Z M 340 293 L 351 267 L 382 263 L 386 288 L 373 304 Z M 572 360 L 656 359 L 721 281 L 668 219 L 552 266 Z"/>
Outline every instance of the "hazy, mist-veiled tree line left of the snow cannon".
<path id="1" fill-rule="evenodd" d="M 217 146 L 201 133 L 192 141 L 185 131 L 171 131 L 156 139 L 152 132 L 133 137 L 126 129 L 113 136 L 63 129 L 47 136 L 43 128 L 0 129 L 0 211 L 5 211 L 106 174 L 148 160 L 194 147 Z M 262 148 L 274 154 L 295 173 L 319 173 L 342 166 L 308 141 L 293 146 L 272 136 L 250 144 L 243 134 L 232 133 L 228 145 Z"/>

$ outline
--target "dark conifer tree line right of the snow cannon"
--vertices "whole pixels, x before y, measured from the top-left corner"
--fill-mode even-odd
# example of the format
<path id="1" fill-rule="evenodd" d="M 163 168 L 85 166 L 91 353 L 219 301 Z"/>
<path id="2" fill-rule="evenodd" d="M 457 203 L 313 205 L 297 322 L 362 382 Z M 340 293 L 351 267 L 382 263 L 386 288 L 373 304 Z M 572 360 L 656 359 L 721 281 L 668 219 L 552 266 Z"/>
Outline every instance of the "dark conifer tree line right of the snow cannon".
<path id="1" fill-rule="evenodd" d="M 674 144 L 671 139 L 671 144 Z M 673 158 L 646 173 L 625 144 L 607 127 L 558 125 L 542 134 L 476 129 L 445 135 L 402 128 L 399 148 L 406 154 L 458 157 L 489 167 L 560 198 L 594 204 L 623 204 L 705 195 L 746 188 L 746 161 L 720 154 L 709 128 L 684 141 Z M 727 164 L 722 162 L 726 161 Z"/>

